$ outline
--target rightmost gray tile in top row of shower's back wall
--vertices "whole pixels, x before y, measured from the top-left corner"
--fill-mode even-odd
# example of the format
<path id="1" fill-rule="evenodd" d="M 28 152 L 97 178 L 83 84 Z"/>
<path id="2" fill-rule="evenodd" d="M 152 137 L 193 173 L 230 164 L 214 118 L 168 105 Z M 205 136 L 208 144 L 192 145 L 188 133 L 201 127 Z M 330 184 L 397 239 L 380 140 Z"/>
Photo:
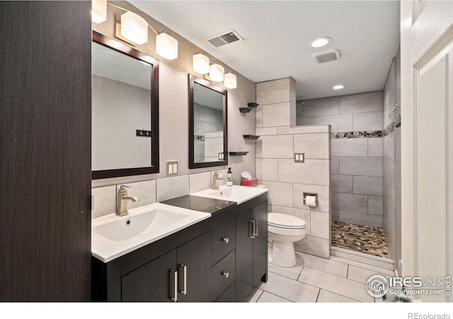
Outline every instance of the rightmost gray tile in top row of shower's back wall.
<path id="1" fill-rule="evenodd" d="M 340 96 L 340 114 L 382 111 L 382 99 L 382 91 Z"/>

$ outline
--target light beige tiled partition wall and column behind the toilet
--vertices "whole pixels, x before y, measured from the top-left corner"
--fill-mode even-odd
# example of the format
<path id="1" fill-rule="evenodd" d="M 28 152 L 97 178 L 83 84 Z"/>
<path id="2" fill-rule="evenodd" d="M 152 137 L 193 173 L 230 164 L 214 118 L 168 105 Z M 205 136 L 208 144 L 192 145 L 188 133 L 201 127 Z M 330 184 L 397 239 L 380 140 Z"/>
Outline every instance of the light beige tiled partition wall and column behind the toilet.
<path id="1" fill-rule="evenodd" d="M 314 117 L 297 127 L 294 80 L 277 79 L 256 85 L 256 175 L 269 189 L 269 211 L 305 220 L 306 237 L 294 243 L 296 250 L 330 257 L 331 189 L 330 128 L 313 125 Z M 335 99 L 334 99 L 335 100 Z M 333 109 L 331 110 L 331 106 Z M 329 108 L 329 109 L 327 109 Z M 316 112 L 316 108 L 310 110 Z M 338 113 L 338 101 L 326 100 L 323 116 Z M 352 114 L 347 114 L 352 122 Z M 316 124 L 316 123 L 315 123 Z M 304 163 L 294 162 L 294 152 L 305 155 Z M 318 194 L 318 206 L 306 206 L 303 193 Z"/>

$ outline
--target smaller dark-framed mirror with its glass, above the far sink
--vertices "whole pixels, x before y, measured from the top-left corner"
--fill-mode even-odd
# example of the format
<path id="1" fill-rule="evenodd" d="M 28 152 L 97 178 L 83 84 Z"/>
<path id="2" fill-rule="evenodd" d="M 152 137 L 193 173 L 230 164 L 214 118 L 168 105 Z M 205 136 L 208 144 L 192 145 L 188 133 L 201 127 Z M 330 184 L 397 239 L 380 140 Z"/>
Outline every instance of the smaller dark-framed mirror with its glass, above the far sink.
<path id="1" fill-rule="evenodd" d="M 228 164 L 227 91 L 189 74 L 189 168 Z"/>

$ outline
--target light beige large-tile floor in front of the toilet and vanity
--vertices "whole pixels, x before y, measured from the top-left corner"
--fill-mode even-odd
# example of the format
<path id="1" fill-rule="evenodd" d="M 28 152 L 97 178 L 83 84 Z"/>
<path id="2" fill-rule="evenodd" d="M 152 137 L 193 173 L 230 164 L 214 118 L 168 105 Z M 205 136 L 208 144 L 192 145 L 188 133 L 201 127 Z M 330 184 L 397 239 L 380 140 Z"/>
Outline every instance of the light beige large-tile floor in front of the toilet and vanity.
<path id="1" fill-rule="evenodd" d="M 365 282 L 373 274 L 394 275 L 391 270 L 336 256 L 324 259 L 296 252 L 296 257 L 292 268 L 269 264 L 268 282 L 260 285 L 249 302 L 382 302 L 369 296 Z"/>

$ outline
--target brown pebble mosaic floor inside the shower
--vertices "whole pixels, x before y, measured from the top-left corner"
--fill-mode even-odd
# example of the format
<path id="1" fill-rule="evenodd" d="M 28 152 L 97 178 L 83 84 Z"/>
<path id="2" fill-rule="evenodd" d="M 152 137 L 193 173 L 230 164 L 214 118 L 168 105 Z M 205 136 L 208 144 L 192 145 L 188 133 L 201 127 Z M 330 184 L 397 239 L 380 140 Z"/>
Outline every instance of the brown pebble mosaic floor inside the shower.
<path id="1" fill-rule="evenodd" d="M 333 221 L 332 246 L 390 258 L 384 230 L 378 227 Z"/>

